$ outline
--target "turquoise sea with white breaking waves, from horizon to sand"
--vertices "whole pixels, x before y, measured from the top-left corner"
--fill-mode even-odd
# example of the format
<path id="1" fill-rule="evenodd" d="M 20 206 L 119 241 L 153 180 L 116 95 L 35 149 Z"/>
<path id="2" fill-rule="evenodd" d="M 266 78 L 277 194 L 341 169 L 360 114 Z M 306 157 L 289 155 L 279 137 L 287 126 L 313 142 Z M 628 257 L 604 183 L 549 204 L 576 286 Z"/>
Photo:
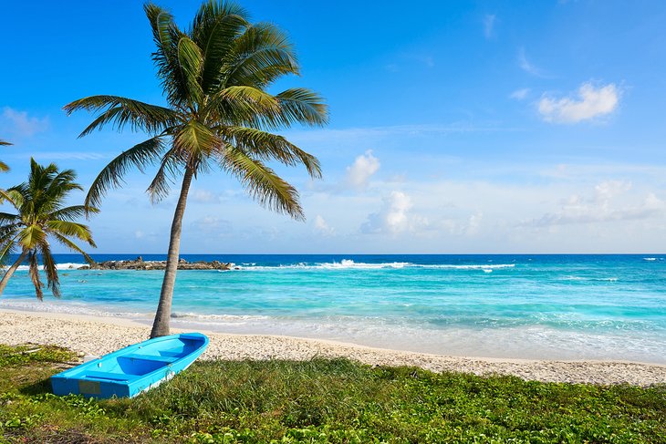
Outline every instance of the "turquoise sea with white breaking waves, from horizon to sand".
<path id="1" fill-rule="evenodd" d="M 173 326 L 447 355 L 666 364 L 666 255 L 182 257 L 237 268 L 179 272 Z M 57 260 L 60 300 L 38 303 L 19 270 L 0 307 L 151 321 L 161 272 L 76 270 L 76 256 Z"/>

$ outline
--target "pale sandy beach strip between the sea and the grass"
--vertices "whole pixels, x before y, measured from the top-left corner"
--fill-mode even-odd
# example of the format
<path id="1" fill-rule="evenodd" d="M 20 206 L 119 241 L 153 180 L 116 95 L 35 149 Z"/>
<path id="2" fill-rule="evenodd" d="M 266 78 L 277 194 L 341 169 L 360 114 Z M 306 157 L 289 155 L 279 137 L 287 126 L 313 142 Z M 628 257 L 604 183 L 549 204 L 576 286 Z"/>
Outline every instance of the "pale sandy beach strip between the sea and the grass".
<path id="1" fill-rule="evenodd" d="M 179 333 L 174 329 L 173 333 Z M 439 356 L 287 336 L 206 333 L 204 359 L 309 359 L 347 356 L 369 365 L 416 366 L 435 372 L 515 375 L 528 380 L 650 386 L 666 383 L 666 366 L 617 361 L 544 361 Z M 150 327 L 128 320 L 0 310 L 0 343 L 66 346 L 104 355 L 147 339 Z"/>

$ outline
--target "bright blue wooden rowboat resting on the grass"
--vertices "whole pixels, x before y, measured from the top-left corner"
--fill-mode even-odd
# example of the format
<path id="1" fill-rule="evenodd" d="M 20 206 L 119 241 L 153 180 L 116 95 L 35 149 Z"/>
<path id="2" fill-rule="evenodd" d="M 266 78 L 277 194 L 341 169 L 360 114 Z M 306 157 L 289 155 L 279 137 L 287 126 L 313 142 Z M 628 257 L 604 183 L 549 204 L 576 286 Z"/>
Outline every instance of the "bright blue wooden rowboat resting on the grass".
<path id="1" fill-rule="evenodd" d="M 51 387 L 61 396 L 132 398 L 189 367 L 206 346 L 201 333 L 156 337 L 58 373 Z"/>

